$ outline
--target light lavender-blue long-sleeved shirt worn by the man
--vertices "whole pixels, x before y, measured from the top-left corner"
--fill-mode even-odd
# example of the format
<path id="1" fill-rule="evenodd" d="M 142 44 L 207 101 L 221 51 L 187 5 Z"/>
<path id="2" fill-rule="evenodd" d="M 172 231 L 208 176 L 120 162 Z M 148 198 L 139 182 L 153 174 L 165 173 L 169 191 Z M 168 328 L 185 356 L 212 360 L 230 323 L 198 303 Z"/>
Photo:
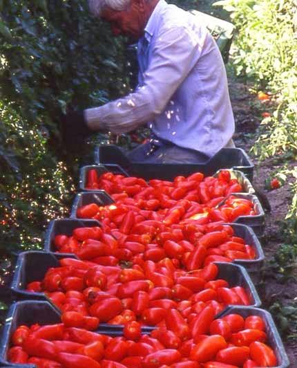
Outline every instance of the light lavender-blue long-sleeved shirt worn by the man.
<path id="1" fill-rule="evenodd" d="M 153 133 L 213 156 L 234 132 L 220 50 L 198 18 L 160 0 L 138 43 L 139 86 L 124 98 L 87 109 L 92 129 L 115 134 L 148 122 Z"/>

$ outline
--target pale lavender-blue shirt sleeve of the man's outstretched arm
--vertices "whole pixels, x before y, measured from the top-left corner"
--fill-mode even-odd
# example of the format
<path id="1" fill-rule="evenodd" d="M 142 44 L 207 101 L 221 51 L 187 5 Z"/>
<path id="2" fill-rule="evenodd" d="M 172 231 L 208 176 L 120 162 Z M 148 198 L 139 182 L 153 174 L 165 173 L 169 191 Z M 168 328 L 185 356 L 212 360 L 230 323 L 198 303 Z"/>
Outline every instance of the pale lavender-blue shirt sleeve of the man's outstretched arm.
<path id="1" fill-rule="evenodd" d="M 84 116 L 90 129 L 122 134 L 154 120 L 164 111 L 200 52 L 197 35 L 191 30 L 184 26 L 164 30 L 154 43 L 144 84 L 124 98 L 86 109 Z"/>

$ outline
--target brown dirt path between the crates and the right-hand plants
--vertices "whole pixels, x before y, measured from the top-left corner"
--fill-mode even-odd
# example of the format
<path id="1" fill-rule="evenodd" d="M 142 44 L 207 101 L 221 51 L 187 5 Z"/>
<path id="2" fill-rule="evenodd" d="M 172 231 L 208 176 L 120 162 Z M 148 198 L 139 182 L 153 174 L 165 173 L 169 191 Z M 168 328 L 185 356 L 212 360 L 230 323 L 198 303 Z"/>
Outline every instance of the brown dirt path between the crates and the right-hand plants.
<path id="1" fill-rule="evenodd" d="M 256 185 L 267 196 L 271 211 L 266 211 L 265 214 L 265 233 L 260 239 L 262 248 L 265 252 L 265 264 L 274 257 L 278 247 L 283 243 L 283 234 L 281 232 L 280 223 L 285 219 L 287 208 L 291 201 L 291 193 L 289 184 L 285 183 L 277 190 L 265 190 L 265 180 L 271 176 L 281 163 L 278 163 L 276 158 L 269 158 L 264 161 L 258 160 L 253 156 L 250 149 L 257 138 L 258 125 L 260 123 L 260 113 L 255 109 L 257 98 L 256 95 L 249 93 L 249 86 L 240 82 L 229 81 L 229 91 L 231 95 L 231 103 L 234 116 L 236 119 L 236 134 L 234 141 L 236 147 L 245 149 L 255 165 L 253 174 L 253 184 Z M 296 165 L 296 163 L 291 163 Z M 264 266 L 265 268 L 265 266 Z M 297 266 L 295 265 L 295 276 L 297 275 Z M 287 282 L 278 282 L 274 275 L 265 274 L 260 284 L 256 285 L 262 306 L 265 309 L 278 301 L 282 304 L 287 304 L 297 296 L 297 282 L 293 277 Z M 296 332 L 296 331 L 295 331 Z M 290 367 L 297 367 L 297 340 L 287 342 L 283 336 L 285 349 L 291 362 Z"/>

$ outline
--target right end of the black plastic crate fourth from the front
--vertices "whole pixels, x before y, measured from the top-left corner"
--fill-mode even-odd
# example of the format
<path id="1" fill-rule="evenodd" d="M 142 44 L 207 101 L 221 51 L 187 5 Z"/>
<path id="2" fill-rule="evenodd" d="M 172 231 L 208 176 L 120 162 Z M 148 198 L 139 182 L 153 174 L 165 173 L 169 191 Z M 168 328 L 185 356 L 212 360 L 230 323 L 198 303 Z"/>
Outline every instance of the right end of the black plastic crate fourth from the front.
<path id="1" fill-rule="evenodd" d="M 254 194 L 246 194 L 246 193 L 236 193 L 231 194 L 231 196 L 232 195 L 235 195 L 237 198 L 248 199 L 249 201 L 251 201 L 253 203 L 253 209 L 256 212 L 256 214 L 254 215 L 240 216 L 233 223 L 242 223 L 243 225 L 249 226 L 250 228 L 253 229 L 257 237 L 262 237 L 262 234 L 265 229 L 265 212 L 262 208 L 260 201 L 258 200 L 258 197 L 255 196 Z M 217 205 L 217 208 L 223 205 L 228 198 L 229 197 L 220 202 Z"/>

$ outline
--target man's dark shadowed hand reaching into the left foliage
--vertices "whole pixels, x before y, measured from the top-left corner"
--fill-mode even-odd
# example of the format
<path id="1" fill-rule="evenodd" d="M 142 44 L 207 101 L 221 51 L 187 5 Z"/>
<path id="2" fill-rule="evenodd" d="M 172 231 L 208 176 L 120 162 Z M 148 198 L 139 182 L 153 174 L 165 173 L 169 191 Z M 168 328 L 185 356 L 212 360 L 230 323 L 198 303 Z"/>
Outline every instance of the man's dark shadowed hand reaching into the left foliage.
<path id="1" fill-rule="evenodd" d="M 86 125 L 83 111 L 70 111 L 61 118 L 62 139 L 68 151 L 82 149 L 85 138 L 93 133 Z"/>

